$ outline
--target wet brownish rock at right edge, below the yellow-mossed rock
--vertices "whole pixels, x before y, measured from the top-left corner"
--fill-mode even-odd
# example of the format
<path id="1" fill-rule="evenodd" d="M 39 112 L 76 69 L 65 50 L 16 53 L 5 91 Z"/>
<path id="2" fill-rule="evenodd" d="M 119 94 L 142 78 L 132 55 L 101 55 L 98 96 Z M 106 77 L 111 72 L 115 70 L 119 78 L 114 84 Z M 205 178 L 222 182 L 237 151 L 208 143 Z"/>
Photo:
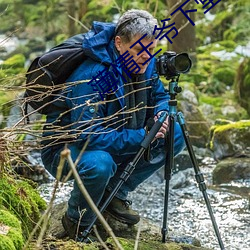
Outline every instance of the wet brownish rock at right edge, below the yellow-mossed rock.
<path id="1" fill-rule="evenodd" d="M 213 183 L 228 183 L 233 180 L 250 178 L 250 158 L 226 158 L 213 171 Z"/>

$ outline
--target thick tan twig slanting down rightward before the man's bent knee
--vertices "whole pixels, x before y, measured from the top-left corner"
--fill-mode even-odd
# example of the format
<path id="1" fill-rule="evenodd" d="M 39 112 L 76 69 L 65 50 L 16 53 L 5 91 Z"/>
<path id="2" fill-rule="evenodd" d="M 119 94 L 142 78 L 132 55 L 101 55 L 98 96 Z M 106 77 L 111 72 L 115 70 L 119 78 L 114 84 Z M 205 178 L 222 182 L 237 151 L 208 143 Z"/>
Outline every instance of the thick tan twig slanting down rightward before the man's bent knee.
<path id="1" fill-rule="evenodd" d="M 69 149 L 64 149 L 61 152 L 61 157 L 62 158 L 66 158 L 68 160 L 69 166 L 72 169 L 73 172 L 73 176 L 75 178 L 75 181 L 77 182 L 77 185 L 80 189 L 80 191 L 82 192 L 84 198 L 86 199 L 86 201 L 88 202 L 90 208 L 94 211 L 94 213 L 97 215 L 98 219 L 100 220 L 100 222 L 102 223 L 102 225 L 104 226 L 105 230 L 108 232 L 108 234 L 113 238 L 115 245 L 117 246 L 117 248 L 119 250 L 124 250 L 123 247 L 121 246 L 121 244 L 119 243 L 119 241 L 117 240 L 116 236 L 114 235 L 111 227 L 109 226 L 109 224 L 106 222 L 106 220 L 104 219 L 104 217 L 102 216 L 102 214 L 100 213 L 100 211 L 98 210 L 98 208 L 96 207 L 95 203 L 93 202 L 92 198 L 90 197 L 88 191 L 86 190 L 85 186 L 83 185 L 83 182 L 79 176 L 79 174 L 77 173 L 77 170 L 75 168 L 74 162 L 71 158 L 71 154 L 70 154 L 70 150 Z"/>

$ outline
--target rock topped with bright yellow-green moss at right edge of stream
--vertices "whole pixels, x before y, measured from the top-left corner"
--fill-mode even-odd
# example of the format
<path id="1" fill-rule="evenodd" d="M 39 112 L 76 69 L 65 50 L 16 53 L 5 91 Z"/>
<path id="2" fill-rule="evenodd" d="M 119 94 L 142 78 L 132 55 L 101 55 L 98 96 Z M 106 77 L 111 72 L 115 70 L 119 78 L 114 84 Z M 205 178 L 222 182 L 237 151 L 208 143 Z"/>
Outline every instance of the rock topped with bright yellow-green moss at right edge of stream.
<path id="1" fill-rule="evenodd" d="M 210 149 L 216 159 L 230 156 L 250 156 L 250 120 L 215 125 L 210 130 Z"/>

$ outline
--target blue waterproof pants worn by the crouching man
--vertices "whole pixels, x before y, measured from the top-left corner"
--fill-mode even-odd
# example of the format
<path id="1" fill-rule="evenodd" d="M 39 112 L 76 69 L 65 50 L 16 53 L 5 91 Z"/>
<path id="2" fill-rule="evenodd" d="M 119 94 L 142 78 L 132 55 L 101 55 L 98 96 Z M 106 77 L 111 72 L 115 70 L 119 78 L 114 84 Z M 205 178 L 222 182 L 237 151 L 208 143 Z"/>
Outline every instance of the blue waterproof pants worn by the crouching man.
<path id="1" fill-rule="evenodd" d="M 151 176 L 156 170 L 164 166 L 166 150 L 164 149 L 164 139 L 158 139 L 151 149 L 152 160 L 145 161 L 143 157 L 136 165 L 135 170 L 129 179 L 121 186 L 116 197 L 126 199 L 128 192 L 135 188 Z M 181 132 L 180 125 L 175 123 L 174 137 L 174 154 L 177 155 L 185 147 L 184 138 Z M 75 161 L 81 151 L 74 143 L 69 144 L 68 148 L 71 151 L 71 157 Z M 60 160 L 60 152 L 62 149 L 54 150 L 53 147 L 42 151 L 42 160 L 45 168 L 56 176 L 57 167 Z M 127 164 L 133 160 L 135 155 L 114 156 L 101 150 L 85 151 L 82 154 L 80 161 L 77 164 L 77 171 L 82 179 L 84 186 L 88 190 L 90 196 L 96 205 L 102 199 L 105 189 L 112 190 L 120 180 L 120 175 Z M 65 164 L 63 175 L 67 175 L 70 167 Z M 89 225 L 94 217 L 94 213 L 90 209 L 86 200 L 76 182 L 71 192 L 71 197 L 68 201 L 68 216 L 76 221 L 80 218 L 80 212 L 86 209 L 84 216 L 81 219 L 81 225 Z"/>

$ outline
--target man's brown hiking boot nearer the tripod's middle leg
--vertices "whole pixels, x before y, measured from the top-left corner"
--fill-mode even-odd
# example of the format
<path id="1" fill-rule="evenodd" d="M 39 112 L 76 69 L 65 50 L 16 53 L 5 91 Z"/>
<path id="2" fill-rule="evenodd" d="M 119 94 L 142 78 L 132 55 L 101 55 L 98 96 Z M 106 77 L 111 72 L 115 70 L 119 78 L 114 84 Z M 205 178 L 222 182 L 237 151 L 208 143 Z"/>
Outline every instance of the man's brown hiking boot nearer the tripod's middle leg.
<path id="1" fill-rule="evenodd" d="M 131 205 L 132 201 L 114 197 L 105 211 L 122 223 L 134 225 L 140 221 L 140 216 L 130 208 Z"/>

